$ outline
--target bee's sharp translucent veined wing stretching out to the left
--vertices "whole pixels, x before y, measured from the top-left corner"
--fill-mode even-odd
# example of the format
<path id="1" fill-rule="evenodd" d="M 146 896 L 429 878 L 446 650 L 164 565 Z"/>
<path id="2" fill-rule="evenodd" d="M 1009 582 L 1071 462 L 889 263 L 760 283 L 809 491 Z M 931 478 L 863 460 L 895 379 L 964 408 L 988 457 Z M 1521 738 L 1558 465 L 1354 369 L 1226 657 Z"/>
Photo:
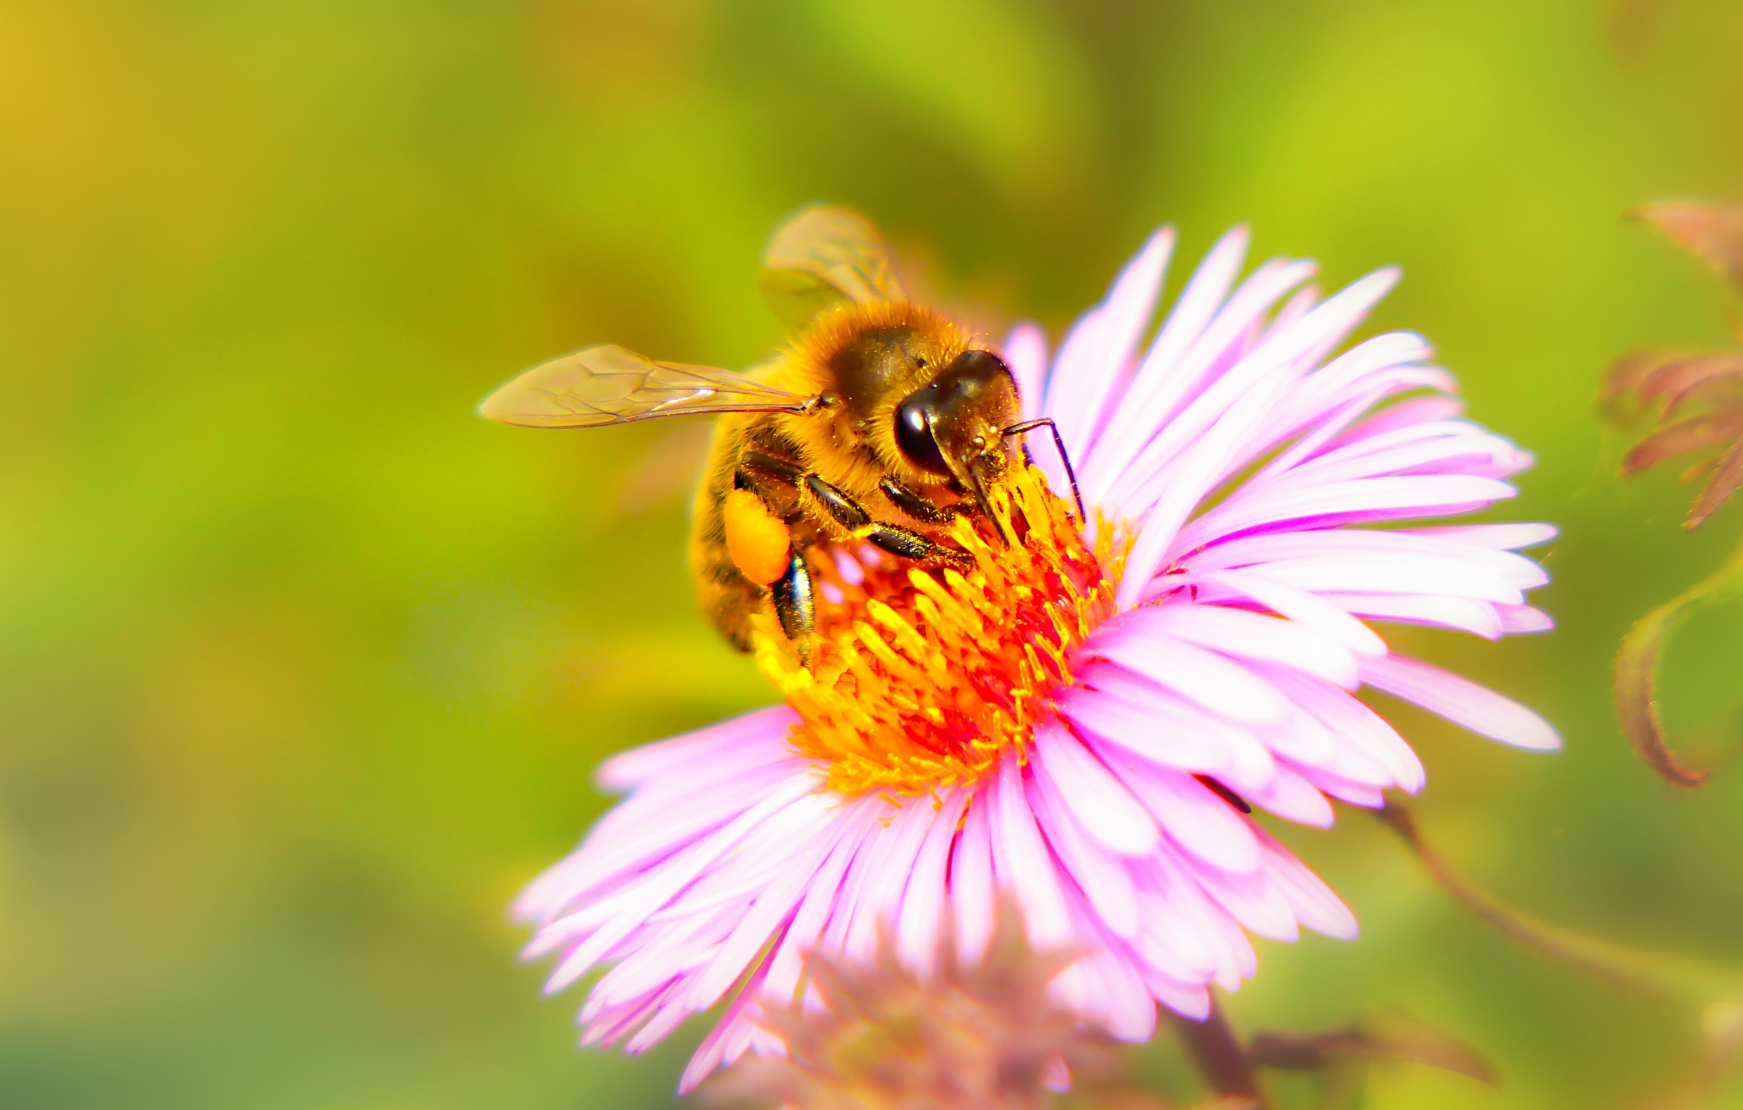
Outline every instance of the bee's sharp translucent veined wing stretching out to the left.
<path id="1" fill-rule="evenodd" d="M 485 397 L 478 415 L 535 429 L 586 429 L 688 413 L 804 411 L 810 399 L 713 366 L 655 362 L 589 347 L 533 366 Z"/>

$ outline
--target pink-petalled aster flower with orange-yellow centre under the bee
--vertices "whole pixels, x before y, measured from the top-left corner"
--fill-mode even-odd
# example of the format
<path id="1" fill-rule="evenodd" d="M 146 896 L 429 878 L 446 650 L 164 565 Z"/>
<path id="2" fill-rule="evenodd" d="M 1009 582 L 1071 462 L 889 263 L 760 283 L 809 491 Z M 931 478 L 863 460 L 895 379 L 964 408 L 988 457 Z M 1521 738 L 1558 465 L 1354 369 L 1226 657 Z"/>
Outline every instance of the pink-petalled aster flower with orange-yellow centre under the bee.
<path id="1" fill-rule="evenodd" d="M 1255 972 L 1248 934 L 1356 934 L 1250 810 L 1326 826 L 1330 800 L 1422 788 L 1358 688 L 1558 746 L 1532 711 L 1368 624 L 1550 627 L 1523 598 L 1546 577 L 1516 551 L 1553 528 L 1419 525 L 1511 497 L 1530 458 L 1459 418 L 1422 338 L 1333 357 L 1394 270 L 1325 300 L 1307 261 L 1236 284 L 1246 240 L 1211 249 L 1147 345 L 1166 228 L 1055 357 L 1034 326 L 1006 342 L 1089 521 L 1049 491 L 1063 474 L 1037 448 L 994 505 L 1020 542 L 959 523 L 976 570 L 835 549 L 814 568 L 812 666 L 758 640 L 784 704 L 601 767 L 627 796 L 516 903 L 528 957 L 556 955 L 549 990 L 608 965 L 582 1042 L 641 1051 L 727 1000 L 688 1089 L 748 1049 L 784 1051 L 763 1014 L 819 1004 L 807 953 L 863 962 L 889 929 L 924 979 L 946 917 L 962 958 L 985 950 L 1000 892 L 1037 948 L 1081 953 L 1053 997 L 1143 1040 L 1157 1002 L 1203 1018 L 1213 983 Z"/>

